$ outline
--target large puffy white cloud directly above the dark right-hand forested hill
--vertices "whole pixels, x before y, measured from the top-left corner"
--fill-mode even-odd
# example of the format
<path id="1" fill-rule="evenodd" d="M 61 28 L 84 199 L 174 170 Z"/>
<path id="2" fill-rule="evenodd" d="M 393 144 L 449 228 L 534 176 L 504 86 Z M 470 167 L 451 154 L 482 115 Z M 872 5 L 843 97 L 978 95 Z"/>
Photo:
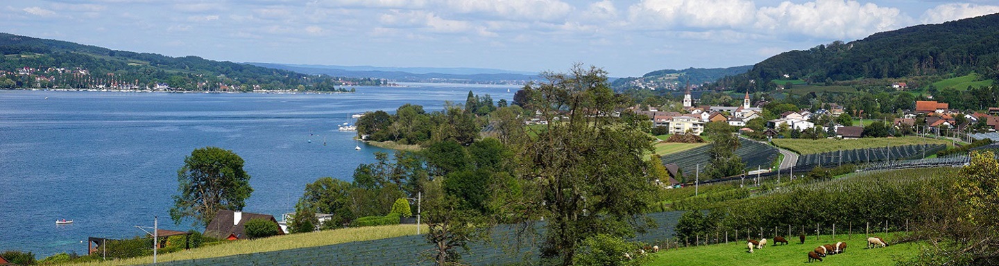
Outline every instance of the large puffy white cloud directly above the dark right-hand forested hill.
<path id="1" fill-rule="evenodd" d="M 770 33 L 797 33 L 825 38 L 863 38 L 900 28 L 911 19 L 897 8 L 849 0 L 816 0 L 802 4 L 783 2 L 757 12 L 755 27 Z"/>

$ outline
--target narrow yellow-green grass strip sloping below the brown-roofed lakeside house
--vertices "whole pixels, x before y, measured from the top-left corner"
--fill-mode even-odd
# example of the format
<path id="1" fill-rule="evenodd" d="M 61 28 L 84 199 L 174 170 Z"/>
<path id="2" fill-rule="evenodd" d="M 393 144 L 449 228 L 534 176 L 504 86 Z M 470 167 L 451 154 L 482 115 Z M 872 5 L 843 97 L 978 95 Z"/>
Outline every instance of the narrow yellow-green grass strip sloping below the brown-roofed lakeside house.
<path id="1" fill-rule="evenodd" d="M 366 241 L 383 238 L 398 237 L 416 234 L 417 228 L 413 224 L 369 226 L 358 228 L 346 228 L 330 231 L 320 231 L 314 233 L 290 234 L 268 237 L 258 240 L 238 240 L 219 245 L 211 245 L 191 250 L 183 250 L 174 253 L 160 254 L 158 262 L 173 260 L 190 260 L 200 258 L 225 257 L 237 254 L 249 254 L 257 252 L 267 252 L 276 250 L 286 250 L 304 247 L 316 247 L 340 244 L 346 242 Z M 423 225 L 423 230 L 427 226 Z M 123 260 L 109 260 L 105 262 L 89 262 L 78 265 L 134 265 L 152 263 L 153 258 L 139 257 Z"/>

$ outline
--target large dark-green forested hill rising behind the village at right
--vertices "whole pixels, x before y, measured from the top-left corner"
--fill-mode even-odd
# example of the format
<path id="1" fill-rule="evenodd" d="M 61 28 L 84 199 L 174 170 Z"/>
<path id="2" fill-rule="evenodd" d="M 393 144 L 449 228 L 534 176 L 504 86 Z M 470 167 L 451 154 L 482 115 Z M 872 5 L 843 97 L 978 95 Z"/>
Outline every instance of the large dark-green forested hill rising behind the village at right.
<path id="1" fill-rule="evenodd" d="M 784 75 L 809 83 L 970 72 L 992 79 L 999 71 L 997 33 L 999 14 L 912 26 L 849 43 L 785 52 L 753 66 L 741 82 L 764 81 L 756 85 L 766 91 L 773 89 L 769 81 Z"/>

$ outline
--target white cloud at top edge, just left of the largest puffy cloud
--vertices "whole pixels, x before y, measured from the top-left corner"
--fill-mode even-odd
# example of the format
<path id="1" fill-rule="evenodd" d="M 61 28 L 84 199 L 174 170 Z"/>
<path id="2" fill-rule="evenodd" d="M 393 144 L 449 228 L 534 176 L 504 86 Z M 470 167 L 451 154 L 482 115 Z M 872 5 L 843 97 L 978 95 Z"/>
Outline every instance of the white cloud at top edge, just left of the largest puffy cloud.
<path id="1" fill-rule="evenodd" d="M 752 23 L 756 5 L 749 0 L 642 0 L 628 8 L 639 27 L 737 28 Z"/>

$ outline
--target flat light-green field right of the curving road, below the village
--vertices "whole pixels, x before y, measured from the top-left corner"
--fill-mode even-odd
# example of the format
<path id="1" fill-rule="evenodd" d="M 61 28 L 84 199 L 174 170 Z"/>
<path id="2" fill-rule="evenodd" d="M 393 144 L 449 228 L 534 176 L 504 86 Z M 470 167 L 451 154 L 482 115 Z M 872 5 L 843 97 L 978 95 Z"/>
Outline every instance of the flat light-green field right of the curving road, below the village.
<path id="1" fill-rule="evenodd" d="M 884 147 L 884 146 L 896 146 L 896 145 L 911 145 L 911 144 L 950 144 L 950 140 L 944 139 L 933 139 L 918 136 L 902 136 L 902 137 L 864 137 L 860 139 L 836 139 L 836 138 L 819 138 L 819 139 L 788 139 L 788 138 L 773 138 L 773 144 L 782 148 L 790 149 L 791 151 L 798 152 L 798 154 L 812 154 L 836 151 L 842 149 L 854 149 L 854 148 L 869 148 L 869 147 Z"/>

